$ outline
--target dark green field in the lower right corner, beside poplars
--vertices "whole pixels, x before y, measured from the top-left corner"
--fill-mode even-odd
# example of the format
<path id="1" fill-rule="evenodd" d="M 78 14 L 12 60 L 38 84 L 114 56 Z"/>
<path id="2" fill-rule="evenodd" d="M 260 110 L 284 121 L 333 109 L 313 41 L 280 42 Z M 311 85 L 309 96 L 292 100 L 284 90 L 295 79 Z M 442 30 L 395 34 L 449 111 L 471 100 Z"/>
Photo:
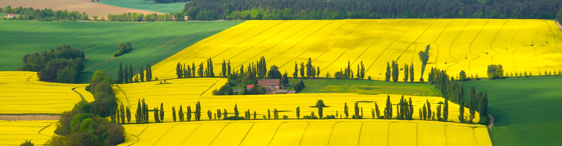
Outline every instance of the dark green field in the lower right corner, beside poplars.
<path id="1" fill-rule="evenodd" d="M 562 143 L 562 76 L 463 82 L 488 93 L 488 112 L 495 119 L 493 144 L 560 145 Z"/>

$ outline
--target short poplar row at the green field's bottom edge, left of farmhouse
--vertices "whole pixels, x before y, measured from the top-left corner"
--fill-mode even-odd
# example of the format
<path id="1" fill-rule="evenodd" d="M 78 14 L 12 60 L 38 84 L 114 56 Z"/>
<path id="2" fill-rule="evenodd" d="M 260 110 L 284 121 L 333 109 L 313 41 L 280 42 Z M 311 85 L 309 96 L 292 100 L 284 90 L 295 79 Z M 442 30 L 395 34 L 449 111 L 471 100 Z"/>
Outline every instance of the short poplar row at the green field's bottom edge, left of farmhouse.
<path id="1" fill-rule="evenodd" d="M 146 81 L 151 81 L 151 65 L 147 64 L 146 70 L 144 70 L 143 67 L 144 66 L 140 66 L 139 75 L 133 75 L 133 65 L 131 65 L 131 62 L 129 62 L 129 66 L 127 66 L 127 64 L 125 63 L 125 68 L 123 68 L 123 65 L 121 64 L 121 62 L 119 62 L 119 70 L 117 70 L 117 80 L 115 80 L 116 84 L 134 83 L 139 82 L 139 80 L 142 82 L 144 81 L 144 79 L 146 79 Z"/>

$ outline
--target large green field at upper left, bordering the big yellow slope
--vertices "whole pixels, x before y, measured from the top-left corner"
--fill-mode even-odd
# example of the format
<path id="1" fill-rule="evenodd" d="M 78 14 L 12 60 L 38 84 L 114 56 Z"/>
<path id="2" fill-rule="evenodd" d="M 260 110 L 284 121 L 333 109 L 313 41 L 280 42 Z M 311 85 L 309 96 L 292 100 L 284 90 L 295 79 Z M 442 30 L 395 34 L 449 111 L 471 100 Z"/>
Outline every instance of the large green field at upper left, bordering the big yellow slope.
<path id="1" fill-rule="evenodd" d="M 101 63 L 117 51 L 122 42 L 131 42 L 133 51 L 84 71 L 80 83 L 89 83 L 96 70 L 117 77 L 119 62 L 132 62 L 138 72 L 142 65 L 164 60 L 189 45 L 243 21 L 207 22 L 51 22 L 0 20 L 0 71 L 21 67 L 25 54 L 48 51 L 62 44 L 84 49 L 86 68 Z M 102 44 L 100 44 L 102 43 Z M 124 66 L 124 65 L 123 65 Z M 173 69 L 170 69 L 173 70 Z"/>

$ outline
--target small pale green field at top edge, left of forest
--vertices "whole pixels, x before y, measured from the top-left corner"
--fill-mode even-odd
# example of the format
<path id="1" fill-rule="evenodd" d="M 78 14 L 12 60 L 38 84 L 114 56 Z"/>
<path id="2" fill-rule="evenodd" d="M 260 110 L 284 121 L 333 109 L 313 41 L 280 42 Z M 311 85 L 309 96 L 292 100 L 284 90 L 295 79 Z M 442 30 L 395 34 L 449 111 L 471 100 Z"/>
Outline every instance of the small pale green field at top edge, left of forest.
<path id="1" fill-rule="evenodd" d="M 138 10 L 148 10 L 162 13 L 182 11 L 187 2 L 179 3 L 155 3 L 154 1 L 143 0 L 103 0 L 98 3 L 108 4 L 111 6 L 134 8 Z"/>

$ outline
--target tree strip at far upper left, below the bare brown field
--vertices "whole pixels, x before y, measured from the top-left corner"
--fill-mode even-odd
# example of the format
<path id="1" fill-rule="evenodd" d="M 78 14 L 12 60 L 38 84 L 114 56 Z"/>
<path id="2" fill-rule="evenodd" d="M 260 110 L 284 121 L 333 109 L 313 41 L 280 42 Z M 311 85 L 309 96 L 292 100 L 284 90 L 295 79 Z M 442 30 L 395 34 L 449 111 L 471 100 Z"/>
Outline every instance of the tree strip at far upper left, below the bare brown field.
<path id="1" fill-rule="evenodd" d="M 20 15 L 19 17 L 13 18 L 13 20 L 39 20 L 39 21 L 75 21 L 75 20 L 88 20 L 88 15 L 86 13 L 67 12 L 65 11 L 53 11 L 50 8 L 39 10 L 33 9 L 32 7 L 15 7 L 6 6 L 0 8 L 0 12 L 12 13 Z M 5 19 L 5 18 L 4 18 Z"/>

